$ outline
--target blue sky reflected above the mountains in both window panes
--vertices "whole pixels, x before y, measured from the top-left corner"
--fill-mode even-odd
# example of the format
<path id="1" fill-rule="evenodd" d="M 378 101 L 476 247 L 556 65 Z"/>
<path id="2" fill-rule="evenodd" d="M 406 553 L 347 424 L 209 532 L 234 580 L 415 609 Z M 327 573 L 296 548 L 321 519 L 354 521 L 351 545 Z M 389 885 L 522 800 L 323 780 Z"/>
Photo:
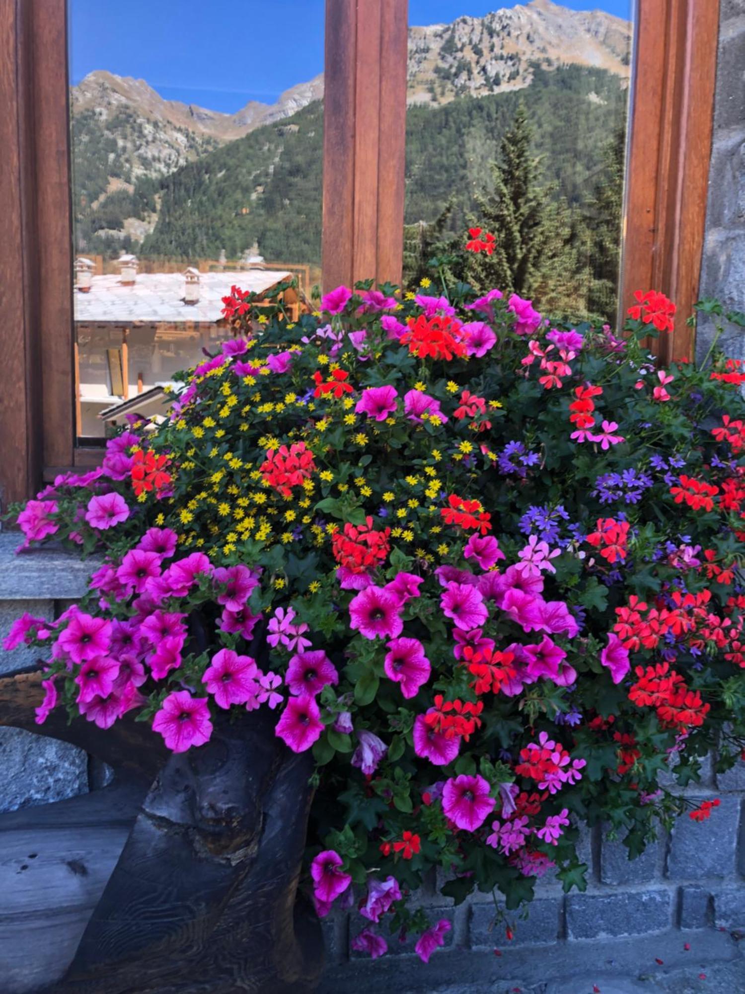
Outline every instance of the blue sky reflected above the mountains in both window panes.
<path id="1" fill-rule="evenodd" d="M 480 17 L 518 0 L 409 0 L 410 24 Z M 71 0 L 71 78 L 146 80 L 167 99 L 232 112 L 323 71 L 324 0 Z M 563 0 L 629 17 L 631 0 Z"/>

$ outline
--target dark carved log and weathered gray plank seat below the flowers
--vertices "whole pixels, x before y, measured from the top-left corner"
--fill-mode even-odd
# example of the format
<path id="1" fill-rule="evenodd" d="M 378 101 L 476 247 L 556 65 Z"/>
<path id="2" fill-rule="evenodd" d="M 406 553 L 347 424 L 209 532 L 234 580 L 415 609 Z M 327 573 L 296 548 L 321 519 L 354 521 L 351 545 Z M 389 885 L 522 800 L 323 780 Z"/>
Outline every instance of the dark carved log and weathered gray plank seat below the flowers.
<path id="1" fill-rule="evenodd" d="M 54 712 L 37 726 L 41 679 L 0 680 L 0 724 L 79 745 L 114 781 L 0 816 L 3 994 L 313 991 L 321 928 L 298 892 L 310 753 L 265 709 L 225 715 L 180 755 L 144 723 L 101 731 Z"/>

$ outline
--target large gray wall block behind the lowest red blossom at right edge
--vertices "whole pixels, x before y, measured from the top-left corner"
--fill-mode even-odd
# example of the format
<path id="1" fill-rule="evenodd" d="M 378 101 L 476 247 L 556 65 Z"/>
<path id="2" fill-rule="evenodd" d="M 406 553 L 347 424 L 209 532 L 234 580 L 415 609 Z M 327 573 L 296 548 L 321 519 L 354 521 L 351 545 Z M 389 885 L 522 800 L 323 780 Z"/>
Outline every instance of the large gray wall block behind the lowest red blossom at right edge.
<path id="1" fill-rule="evenodd" d="M 702 797 L 691 798 L 695 803 Z M 707 821 L 684 814 L 672 828 L 667 876 L 672 880 L 731 877 L 735 873 L 740 824 L 739 797 L 722 797 Z"/>

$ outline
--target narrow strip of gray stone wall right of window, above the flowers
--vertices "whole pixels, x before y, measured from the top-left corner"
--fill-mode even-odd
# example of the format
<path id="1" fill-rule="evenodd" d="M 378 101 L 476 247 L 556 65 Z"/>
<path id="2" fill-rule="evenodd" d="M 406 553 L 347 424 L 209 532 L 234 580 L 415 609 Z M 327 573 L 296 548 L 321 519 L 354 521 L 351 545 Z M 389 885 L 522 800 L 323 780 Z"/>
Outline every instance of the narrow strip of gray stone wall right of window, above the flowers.
<path id="1" fill-rule="evenodd" d="M 745 310 L 745 0 L 721 0 L 720 5 L 714 132 L 699 296 L 717 297 L 728 309 Z M 699 359 L 706 353 L 713 334 L 710 321 L 698 321 Z M 745 358 L 741 328 L 727 328 L 720 344 L 727 355 Z"/>

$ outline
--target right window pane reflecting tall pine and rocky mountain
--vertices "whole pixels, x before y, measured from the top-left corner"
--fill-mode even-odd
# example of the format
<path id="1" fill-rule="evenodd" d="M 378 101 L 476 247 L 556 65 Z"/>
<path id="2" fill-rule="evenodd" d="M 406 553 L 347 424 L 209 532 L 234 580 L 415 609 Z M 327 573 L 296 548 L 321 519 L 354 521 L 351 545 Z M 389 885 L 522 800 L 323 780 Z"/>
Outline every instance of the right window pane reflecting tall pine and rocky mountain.
<path id="1" fill-rule="evenodd" d="M 632 4 L 566 2 L 461 16 L 480 5 L 448 0 L 448 23 L 409 29 L 405 276 L 431 276 L 478 225 L 495 251 L 451 276 L 603 323 L 618 298 Z M 412 24 L 427 7 L 410 0 Z"/>

